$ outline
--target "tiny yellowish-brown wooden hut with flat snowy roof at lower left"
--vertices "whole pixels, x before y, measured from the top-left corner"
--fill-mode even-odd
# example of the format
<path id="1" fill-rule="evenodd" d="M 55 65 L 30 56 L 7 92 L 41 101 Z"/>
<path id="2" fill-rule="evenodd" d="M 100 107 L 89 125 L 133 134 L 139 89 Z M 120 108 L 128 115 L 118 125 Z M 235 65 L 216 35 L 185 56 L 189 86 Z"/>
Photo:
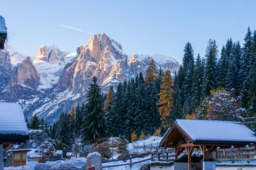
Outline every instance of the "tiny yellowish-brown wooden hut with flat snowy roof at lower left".
<path id="1" fill-rule="evenodd" d="M 31 149 L 9 150 L 9 152 L 12 152 L 12 167 L 26 165 L 27 153 L 30 152 L 30 150 Z"/>

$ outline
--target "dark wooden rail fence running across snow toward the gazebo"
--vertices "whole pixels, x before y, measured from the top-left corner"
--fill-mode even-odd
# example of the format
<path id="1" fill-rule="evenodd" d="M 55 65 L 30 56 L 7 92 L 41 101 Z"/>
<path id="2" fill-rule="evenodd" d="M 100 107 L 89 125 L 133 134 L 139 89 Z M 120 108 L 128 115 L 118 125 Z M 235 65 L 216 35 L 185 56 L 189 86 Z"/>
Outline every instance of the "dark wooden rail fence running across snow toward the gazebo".
<path id="1" fill-rule="evenodd" d="M 140 161 L 132 161 L 133 158 L 143 158 L 145 156 L 149 156 L 151 155 L 150 158 L 146 158 L 144 160 L 140 160 Z M 106 167 L 119 167 L 119 166 L 124 166 L 124 165 L 130 165 L 130 168 L 132 167 L 133 164 L 135 163 L 140 163 L 140 162 L 144 162 L 144 161 L 174 161 L 174 156 L 175 154 L 173 152 L 151 152 L 148 154 L 140 154 L 138 156 L 131 156 L 129 158 L 123 158 L 123 159 L 118 159 L 118 160 L 102 160 L 102 163 L 108 163 L 108 162 L 114 162 L 114 161 L 127 161 L 129 160 L 128 163 L 121 163 L 121 164 L 116 164 L 116 165 L 105 165 L 103 166 L 103 168 Z"/>

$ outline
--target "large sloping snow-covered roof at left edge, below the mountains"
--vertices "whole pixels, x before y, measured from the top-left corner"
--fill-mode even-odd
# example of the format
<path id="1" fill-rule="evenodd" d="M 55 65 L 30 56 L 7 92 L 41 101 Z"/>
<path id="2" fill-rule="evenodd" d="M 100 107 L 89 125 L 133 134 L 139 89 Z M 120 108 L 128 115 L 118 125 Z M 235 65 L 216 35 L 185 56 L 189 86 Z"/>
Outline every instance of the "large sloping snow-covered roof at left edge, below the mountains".
<path id="1" fill-rule="evenodd" d="M 0 102 L 0 134 L 28 135 L 24 114 L 18 103 Z"/>

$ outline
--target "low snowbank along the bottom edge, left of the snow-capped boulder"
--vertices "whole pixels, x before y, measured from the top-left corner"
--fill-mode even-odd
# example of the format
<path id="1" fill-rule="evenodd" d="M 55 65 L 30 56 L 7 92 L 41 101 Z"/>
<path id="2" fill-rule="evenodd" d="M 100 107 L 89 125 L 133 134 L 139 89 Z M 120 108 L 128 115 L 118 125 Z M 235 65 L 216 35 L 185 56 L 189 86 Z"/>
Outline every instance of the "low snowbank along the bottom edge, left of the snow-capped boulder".
<path id="1" fill-rule="evenodd" d="M 7 169 L 62 169 L 62 168 L 84 168 L 85 158 L 71 158 L 70 160 L 47 161 L 46 163 L 36 163 L 20 167 L 5 167 Z"/>

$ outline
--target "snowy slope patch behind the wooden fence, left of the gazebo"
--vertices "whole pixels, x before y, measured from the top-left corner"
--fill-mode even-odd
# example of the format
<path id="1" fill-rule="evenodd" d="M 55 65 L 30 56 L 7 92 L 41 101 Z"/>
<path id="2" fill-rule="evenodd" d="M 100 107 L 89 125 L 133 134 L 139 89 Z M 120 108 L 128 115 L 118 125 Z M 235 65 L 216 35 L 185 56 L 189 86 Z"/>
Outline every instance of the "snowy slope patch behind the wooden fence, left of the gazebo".
<path id="1" fill-rule="evenodd" d="M 147 139 L 140 139 L 139 141 L 127 144 L 127 149 L 129 154 L 152 152 L 158 148 L 161 139 L 162 137 L 150 136 Z"/>

